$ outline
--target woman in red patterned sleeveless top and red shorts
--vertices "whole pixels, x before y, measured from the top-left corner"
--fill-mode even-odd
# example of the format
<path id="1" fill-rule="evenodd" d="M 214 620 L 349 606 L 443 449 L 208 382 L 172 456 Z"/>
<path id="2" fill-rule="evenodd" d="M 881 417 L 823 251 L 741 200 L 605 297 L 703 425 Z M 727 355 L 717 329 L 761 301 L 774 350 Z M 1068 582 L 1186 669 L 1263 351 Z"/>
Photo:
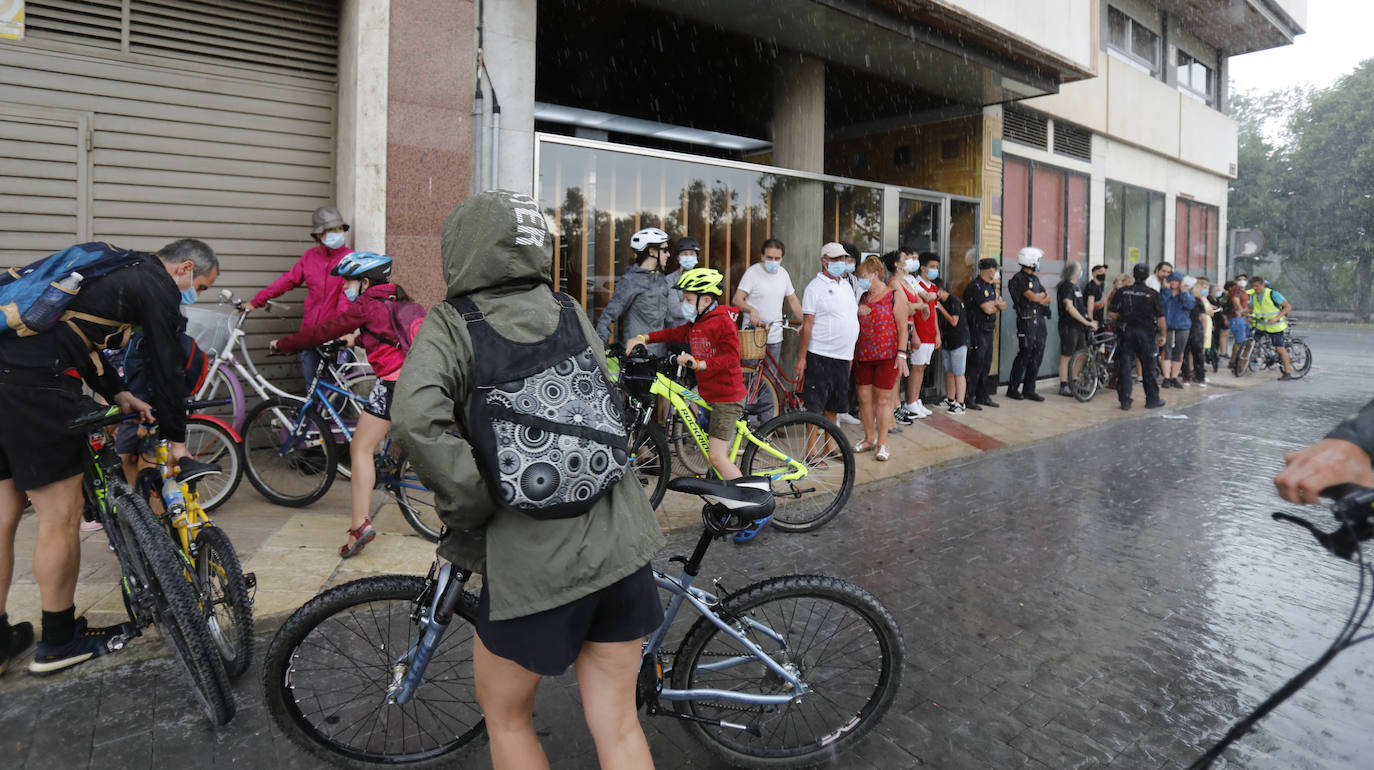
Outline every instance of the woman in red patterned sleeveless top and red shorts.
<path id="1" fill-rule="evenodd" d="M 877 448 L 874 455 L 886 461 L 888 432 L 892 430 L 892 395 L 897 378 L 907 368 L 907 319 L 911 309 L 903 292 L 886 285 L 888 271 L 878 257 L 868 257 L 857 270 L 859 341 L 855 344 L 855 385 L 859 386 L 859 418 L 863 421 L 863 441 L 856 452 Z"/>

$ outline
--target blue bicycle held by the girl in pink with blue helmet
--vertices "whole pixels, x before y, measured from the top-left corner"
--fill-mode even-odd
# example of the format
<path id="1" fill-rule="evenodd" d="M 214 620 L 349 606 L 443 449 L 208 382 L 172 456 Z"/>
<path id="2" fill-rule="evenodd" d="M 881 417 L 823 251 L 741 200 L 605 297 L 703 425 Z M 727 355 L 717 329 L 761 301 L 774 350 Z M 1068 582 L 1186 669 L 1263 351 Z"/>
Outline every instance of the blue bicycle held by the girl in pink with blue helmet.
<path id="1" fill-rule="evenodd" d="M 304 402 L 267 399 L 243 419 L 249 483 L 276 505 L 302 507 L 324 496 L 339 473 L 335 436 L 353 440 L 353 426 L 335 402 L 346 400 L 361 408 L 367 399 L 324 377 L 339 346 L 339 342 L 330 342 L 317 348 L 320 364 Z M 442 522 L 434 510 L 434 494 L 425 488 L 405 455 L 392 448 L 390 436 L 382 441 L 375 462 L 375 488 L 390 495 L 415 532 L 438 542 Z"/>

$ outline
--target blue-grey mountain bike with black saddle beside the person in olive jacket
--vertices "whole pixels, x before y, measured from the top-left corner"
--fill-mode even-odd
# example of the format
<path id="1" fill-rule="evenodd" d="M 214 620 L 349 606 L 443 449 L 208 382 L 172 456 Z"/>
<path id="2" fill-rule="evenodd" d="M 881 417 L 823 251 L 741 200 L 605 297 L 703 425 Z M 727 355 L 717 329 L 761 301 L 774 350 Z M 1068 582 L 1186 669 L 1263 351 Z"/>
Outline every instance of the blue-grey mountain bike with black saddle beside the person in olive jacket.
<path id="1" fill-rule="evenodd" d="M 677 478 L 705 528 L 644 642 L 638 703 L 736 767 L 809 767 L 846 756 L 901 685 L 904 645 L 872 594 L 837 578 L 785 575 L 728 595 L 694 586 L 712 540 L 774 509 L 765 478 Z M 262 671 L 267 705 L 297 745 L 334 767 L 458 767 L 485 726 L 473 681 L 477 597 L 469 573 L 379 575 L 315 597 L 282 626 Z M 714 590 L 723 591 L 720 580 Z M 699 617 L 675 652 L 684 606 Z M 475 758 L 473 758 L 475 760 Z"/>

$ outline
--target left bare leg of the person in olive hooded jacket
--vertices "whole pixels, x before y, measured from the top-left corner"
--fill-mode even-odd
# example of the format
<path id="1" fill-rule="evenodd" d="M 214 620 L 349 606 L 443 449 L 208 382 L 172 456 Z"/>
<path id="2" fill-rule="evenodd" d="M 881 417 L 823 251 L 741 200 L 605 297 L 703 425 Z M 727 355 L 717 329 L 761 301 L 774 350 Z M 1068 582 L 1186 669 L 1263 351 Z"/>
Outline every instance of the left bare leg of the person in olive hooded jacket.
<path id="1" fill-rule="evenodd" d="M 639 644 L 635 644 L 639 649 Z M 631 671 L 636 670 L 631 667 Z M 534 690 L 540 675 L 486 649 L 473 637 L 477 703 L 486 718 L 486 737 L 496 770 L 548 770 L 544 747 L 534 734 Z M 633 696 L 631 696 L 633 703 Z"/>

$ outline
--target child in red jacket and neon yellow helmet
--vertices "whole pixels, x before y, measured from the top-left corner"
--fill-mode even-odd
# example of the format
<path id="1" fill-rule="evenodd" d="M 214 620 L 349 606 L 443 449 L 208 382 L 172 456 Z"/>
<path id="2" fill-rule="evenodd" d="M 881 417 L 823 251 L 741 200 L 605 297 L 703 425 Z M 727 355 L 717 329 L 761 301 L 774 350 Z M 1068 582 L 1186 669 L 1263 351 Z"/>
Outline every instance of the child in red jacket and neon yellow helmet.
<path id="1" fill-rule="evenodd" d="M 745 377 L 739 368 L 739 333 L 735 324 L 739 311 L 721 305 L 720 285 L 725 279 L 719 271 L 699 267 L 688 270 L 677 279 L 683 293 L 683 316 L 687 323 L 647 337 L 631 338 L 633 351 L 646 342 L 688 342 L 690 353 L 677 356 L 680 366 L 697 371 L 697 390 L 710 404 L 710 465 L 721 478 L 739 478 L 739 468 L 730 461 L 730 444 L 735 440 L 735 424 L 745 415 Z M 702 300 L 706 307 L 702 309 Z"/>

